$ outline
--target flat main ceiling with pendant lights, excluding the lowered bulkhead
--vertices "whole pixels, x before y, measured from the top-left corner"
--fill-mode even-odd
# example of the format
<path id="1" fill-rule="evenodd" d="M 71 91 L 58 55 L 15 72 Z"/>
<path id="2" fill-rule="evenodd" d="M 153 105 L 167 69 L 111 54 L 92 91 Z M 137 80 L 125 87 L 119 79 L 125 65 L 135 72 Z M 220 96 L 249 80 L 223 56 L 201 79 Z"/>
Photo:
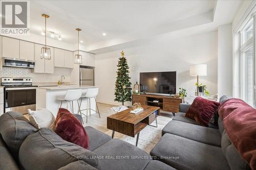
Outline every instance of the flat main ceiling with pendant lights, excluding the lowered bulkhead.
<path id="1" fill-rule="evenodd" d="M 61 34 L 63 42 L 77 43 L 75 29 L 80 28 L 80 39 L 89 45 L 161 27 L 214 6 L 215 1 L 31 1 L 30 26 L 31 33 L 40 35 L 41 14 L 46 13 L 48 30 Z"/>

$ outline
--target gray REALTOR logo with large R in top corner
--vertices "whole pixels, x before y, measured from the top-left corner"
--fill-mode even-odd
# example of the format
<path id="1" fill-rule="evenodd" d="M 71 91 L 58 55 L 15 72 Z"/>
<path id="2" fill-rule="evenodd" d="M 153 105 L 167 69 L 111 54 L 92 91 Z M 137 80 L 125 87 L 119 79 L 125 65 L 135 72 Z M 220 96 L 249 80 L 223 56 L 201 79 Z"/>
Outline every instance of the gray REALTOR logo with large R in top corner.
<path id="1" fill-rule="evenodd" d="M 28 34 L 29 1 L 1 1 L 1 34 Z"/>

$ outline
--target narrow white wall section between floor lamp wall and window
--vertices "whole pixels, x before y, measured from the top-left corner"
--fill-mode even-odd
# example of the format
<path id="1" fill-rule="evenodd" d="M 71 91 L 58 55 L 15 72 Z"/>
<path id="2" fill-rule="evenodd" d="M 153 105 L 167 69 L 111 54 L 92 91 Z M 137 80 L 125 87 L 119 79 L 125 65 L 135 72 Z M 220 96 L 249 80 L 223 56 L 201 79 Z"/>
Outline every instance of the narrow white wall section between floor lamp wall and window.
<path id="1" fill-rule="evenodd" d="M 232 95 L 232 26 L 218 27 L 218 94 Z"/>

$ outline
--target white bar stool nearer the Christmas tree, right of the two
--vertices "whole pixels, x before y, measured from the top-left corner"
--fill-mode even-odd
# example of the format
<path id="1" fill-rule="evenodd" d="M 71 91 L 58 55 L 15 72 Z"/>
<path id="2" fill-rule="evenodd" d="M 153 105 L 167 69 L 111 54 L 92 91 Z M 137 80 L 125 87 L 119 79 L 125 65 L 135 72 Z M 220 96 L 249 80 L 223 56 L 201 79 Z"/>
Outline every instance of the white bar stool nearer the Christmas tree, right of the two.
<path id="1" fill-rule="evenodd" d="M 96 103 L 96 107 L 97 107 L 97 110 L 98 110 L 98 111 L 96 111 L 96 110 L 93 110 L 93 111 L 95 111 L 96 113 L 99 114 L 99 108 L 98 108 L 98 104 L 97 104 L 97 101 L 96 101 L 96 96 L 98 95 L 98 93 L 99 93 L 99 88 L 89 88 L 87 93 L 83 94 L 81 96 L 80 107 L 81 107 L 82 100 L 87 99 L 87 109 L 83 109 L 83 110 L 86 110 L 86 123 L 88 122 L 88 110 L 89 110 L 90 115 L 91 115 L 91 110 L 93 110 L 91 108 L 91 99 L 92 98 L 94 98 L 95 103 Z M 89 104 L 89 108 L 88 108 L 88 104 Z M 83 111 L 83 110 L 81 110 L 81 111 Z M 100 114 L 99 114 L 99 118 L 100 118 Z"/>

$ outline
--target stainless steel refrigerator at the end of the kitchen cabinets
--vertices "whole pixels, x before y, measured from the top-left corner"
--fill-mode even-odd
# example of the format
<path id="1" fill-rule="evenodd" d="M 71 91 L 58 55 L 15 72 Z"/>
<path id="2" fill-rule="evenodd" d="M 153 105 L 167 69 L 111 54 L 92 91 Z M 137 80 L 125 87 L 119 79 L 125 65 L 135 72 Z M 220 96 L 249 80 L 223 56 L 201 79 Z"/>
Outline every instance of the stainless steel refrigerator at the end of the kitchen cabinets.
<path id="1" fill-rule="evenodd" d="M 94 67 L 80 66 L 80 85 L 94 86 Z"/>

